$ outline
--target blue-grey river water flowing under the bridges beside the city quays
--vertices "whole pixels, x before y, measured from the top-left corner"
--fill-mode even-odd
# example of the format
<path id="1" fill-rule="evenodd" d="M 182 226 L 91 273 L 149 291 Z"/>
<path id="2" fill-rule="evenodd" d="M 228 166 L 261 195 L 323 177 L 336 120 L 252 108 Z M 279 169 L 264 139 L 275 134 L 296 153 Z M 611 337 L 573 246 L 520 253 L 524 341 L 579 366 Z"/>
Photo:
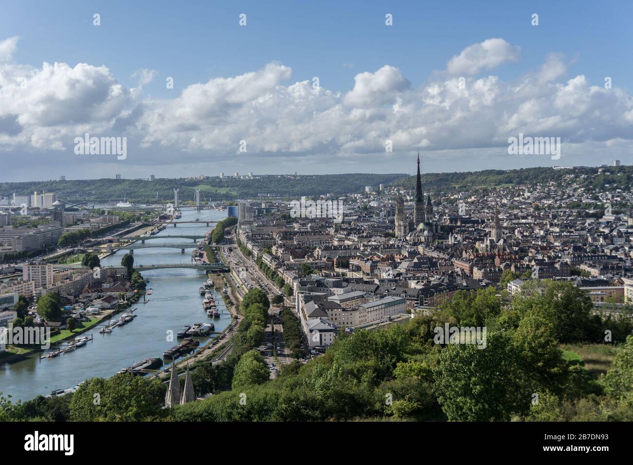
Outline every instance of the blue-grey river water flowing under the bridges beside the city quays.
<path id="1" fill-rule="evenodd" d="M 226 213 L 217 210 L 184 209 L 182 218 L 177 221 L 203 220 L 219 221 L 226 217 Z M 182 234 L 192 235 L 205 233 L 213 227 L 205 223 L 167 226 L 155 237 Z M 192 239 L 153 239 L 146 245 L 185 244 L 190 248 L 185 253 L 180 249 L 151 247 L 134 251 L 134 264 L 149 266 L 159 263 L 191 263 Z M 127 251 L 121 250 L 105 257 L 103 266 L 120 266 L 121 257 Z M 137 318 L 125 326 L 118 326 L 110 334 L 99 334 L 100 326 L 84 335 L 94 336 L 84 347 L 65 352 L 52 359 L 39 359 L 40 354 L 32 354 L 17 363 L 0 365 L 0 392 L 11 394 L 12 401 L 18 399 L 29 400 L 38 394 L 51 394 L 54 389 L 66 389 L 94 376 L 108 378 L 123 367 L 130 366 L 148 357 L 160 357 L 166 349 L 173 347 L 179 341 L 175 334 L 183 325 L 192 323 L 209 323 L 213 321 L 216 331 L 222 331 L 231 321 L 222 296 L 215 290 L 213 300 L 216 302 L 220 318 L 209 318 L 202 306 L 203 296 L 198 288 L 206 280 L 202 270 L 187 270 L 180 268 L 166 270 L 143 270 L 141 274 L 149 279 L 147 288 L 153 289 L 148 296 L 147 304 L 139 301 L 135 305 Z M 132 307 L 134 308 L 134 307 Z M 122 313 L 113 316 L 118 319 Z M 109 320 L 108 320 L 109 321 Z M 106 323 L 108 323 L 106 321 Z M 168 330 L 173 331 L 173 342 L 167 340 Z M 206 342 L 201 340 L 201 346 Z M 165 366 L 171 361 L 165 360 Z M 163 366 L 163 368 L 165 368 Z"/>

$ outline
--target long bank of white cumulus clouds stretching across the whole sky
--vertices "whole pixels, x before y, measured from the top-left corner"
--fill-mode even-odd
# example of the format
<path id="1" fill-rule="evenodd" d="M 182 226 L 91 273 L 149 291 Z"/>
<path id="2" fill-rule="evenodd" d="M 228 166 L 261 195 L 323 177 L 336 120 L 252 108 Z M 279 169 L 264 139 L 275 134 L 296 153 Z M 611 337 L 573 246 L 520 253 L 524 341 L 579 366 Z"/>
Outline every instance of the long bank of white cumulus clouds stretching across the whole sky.
<path id="1" fill-rule="evenodd" d="M 189 85 L 172 99 L 128 89 L 105 66 L 6 64 L 0 66 L 0 150 L 72 154 L 72 139 L 91 132 L 129 136 L 128 151 L 137 149 L 129 160 L 151 156 L 139 163 L 239 156 L 241 141 L 249 155 L 343 163 L 367 154 L 384 161 L 387 140 L 395 153 L 470 153 L 507 147 L 519 132 L 603 147 L 633 139 L 633 99 L 584 75 L 561 81 L 567 67 L 560 55 L 545 57 L 516 82 L 468 77 L 516 58 L 518 47 L 489 39 L 451 59 L 449 68 L 460 72 L 448 77 L 413 87 L 385 65 L 358 73 L 346 93 L 292 80 L 289 66 L 268 63 Z"/>

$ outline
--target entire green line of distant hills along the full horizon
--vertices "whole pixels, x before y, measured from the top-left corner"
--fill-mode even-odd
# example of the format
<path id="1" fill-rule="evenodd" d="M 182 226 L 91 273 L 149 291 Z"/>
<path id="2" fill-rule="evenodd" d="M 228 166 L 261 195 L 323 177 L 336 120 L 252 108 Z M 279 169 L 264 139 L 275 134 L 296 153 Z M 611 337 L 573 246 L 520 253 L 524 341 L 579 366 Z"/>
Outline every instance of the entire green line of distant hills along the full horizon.
<path id="1" fill-rule="evenodd" d="M 598 171 L 601 170 L 601 173 Z M 422 175 L 424 192 L 460 191 L 473 187 L 496 187 L 529 183 L 555 182 L 563 185 L 566 177 L 574 175 L 582 185 L 594 190 L 608 186 L 610 190 L 630 190 L 633 187 L 633 166 L 579 167 L 554 170 L 553 168 L 522 168 L 520 170 L 484 170 L 461 173 L 425 173 Z M 219 177 L 205 180 L 157 178 L 154 181 L 139 179 L 95 179 L 44 182 L 0 183 L 0 197 L 11 197 L 37 192 L 55 192 L 66 201 L 120 201 L 125 198 L 134 203 L 150 203 L 173 199 L 173 189 L 180 188 L 181 201 L 192 201 L 194 189 L 201 189 L 208 201 L 256 199 L 258 194 L 276 194 L 298 198 L 322 194 L 349 194 L 363 192 L 365 186 L 377 188 L 379 184 L 415 189 L 415 176 L 401 173 L 343 175 L 263 175 L 253 179 Z"/>

